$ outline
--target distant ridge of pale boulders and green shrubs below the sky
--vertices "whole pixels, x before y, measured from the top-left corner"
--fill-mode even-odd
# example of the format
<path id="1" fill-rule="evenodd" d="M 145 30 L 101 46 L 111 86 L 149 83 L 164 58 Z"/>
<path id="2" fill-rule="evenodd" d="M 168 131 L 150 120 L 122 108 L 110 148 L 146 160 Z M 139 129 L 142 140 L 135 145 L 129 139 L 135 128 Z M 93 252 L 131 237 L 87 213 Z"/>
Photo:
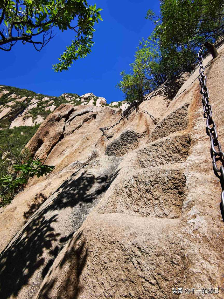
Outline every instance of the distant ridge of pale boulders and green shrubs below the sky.
<path id="1" fill-rule="evenodd" d="M 61 103 L 69 103 L 73 106 L 88 105 L 101 107 L 107 103 L 104 97 L 96 97 L 93 93 L 83 94 L 62 94 L 59 97 L 47 97 L 43 94 L 36 94 L 33 91 L 27 91 L 19 88 L 10 88 L 10 86 L 0 86 L 0 127 L 9 128 L 19 126 L 34 126 L 41 124 L 47 115 L 53 112 Z M 15 91 L 16 90 L 16 91 Z M 1 92 L 2 91 L 2 92 Z M 17 94 L 18 93 L 18 94 Z M 27 94 L 27 96 L 22 96 Z M 20 103 L 23 103 L 20 106 Z M 1 125 L 3 120 L 3 125 Z"/>

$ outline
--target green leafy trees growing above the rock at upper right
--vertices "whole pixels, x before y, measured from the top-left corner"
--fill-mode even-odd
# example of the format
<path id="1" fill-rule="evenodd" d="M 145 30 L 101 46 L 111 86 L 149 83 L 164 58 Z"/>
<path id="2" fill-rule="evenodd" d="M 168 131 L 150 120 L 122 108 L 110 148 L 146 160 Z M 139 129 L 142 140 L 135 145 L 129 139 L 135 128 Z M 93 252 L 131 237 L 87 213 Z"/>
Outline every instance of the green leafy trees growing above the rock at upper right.
<path id="1" fill-rule="evenodd" d="M 162 0 L 160 15 L 148 10 L 146 19 L 154 21 L 155 29 L 148 39 L 139 42 L 130 74 L 123 71 L 117 85 L 128 101 L 136 100 L 136 94 L 141 94 L 142 100 L 143 90 L 151 92 L 174 77 L 191 62 L 203 42 L 214 42 L 223 34 L 224 2 Z M 136 84 L 136 65 L 138 78 L 144 78 L 143 86 Z M 140 90 L 134 94 L 136 88 Z"/>

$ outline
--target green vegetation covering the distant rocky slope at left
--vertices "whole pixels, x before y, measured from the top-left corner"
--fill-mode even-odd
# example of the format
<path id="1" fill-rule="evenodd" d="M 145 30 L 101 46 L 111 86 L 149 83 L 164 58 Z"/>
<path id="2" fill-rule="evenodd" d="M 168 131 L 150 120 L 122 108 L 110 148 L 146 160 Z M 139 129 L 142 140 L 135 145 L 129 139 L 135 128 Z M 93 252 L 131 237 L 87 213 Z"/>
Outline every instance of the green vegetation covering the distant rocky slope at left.
<path id="1" fill-rule="evenodd" d="M 42 165 L 41 161 L 32 160 L 29 151 L 24 148 L 39 126 L 19 126 L 9 129 L 11 121 L 19 117 L 28 106 L 31 109 L 27 110 L 23 117 L 32 117 L 35 123 L 39 115 L 45 119 L 51 113 L 49 108 L 52 106 L 56 109 L 62 103 L 71 103 L 73 106 L 83 103 L 80 96 L 73 93 L 52 97 L 16 87 L 1 86 L 0 92 L 6 90 L 9 92 L 1 94 L 0 98 L 2 109 L 11 107 L 11 111 L 0 120 L 0 206 L 10 203 L 14 195 L 25 186 L 29 177 L 49 173 L 54 168 Z M 21 102 L 19 99 L 22 97 L 26 98 Z M 96 105 L 98 97 L 90 94 L 86 104 L 90 99 L 93 99 L 93 105 Z"/>

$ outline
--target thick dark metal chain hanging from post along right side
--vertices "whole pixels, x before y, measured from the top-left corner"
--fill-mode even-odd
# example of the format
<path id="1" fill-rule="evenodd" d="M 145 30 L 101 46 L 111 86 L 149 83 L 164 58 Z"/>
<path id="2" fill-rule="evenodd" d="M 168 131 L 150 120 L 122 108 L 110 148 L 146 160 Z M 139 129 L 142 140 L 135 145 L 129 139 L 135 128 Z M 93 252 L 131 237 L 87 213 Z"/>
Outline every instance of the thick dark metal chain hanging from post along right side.
<path id="1" fill-rule="evenodd" d="M 206 44 L 202 44 L 200 51 L 198 52 L 198 63 L 199 63 L 199 73 L 200 73 L 198 80 L 201 86 L 204 118 L 206 118 L 206 133 L 210 137 L 210 141 L 211 141 L 211 158 L 212 158 L 214 173 L 224 183 L 224 167 L 217 166 L 217 161 L 220 161 L 222 165 L 224 165 L 224 153 L 222 151 L 221 144 L 218 141 L 216 124 L 215 121 L 212 119 L 212 106 L 209 103 L 208 87 L 206 86 L 207 78 L 204 74 L 205 68 L 202 63 L 203 57 L 201 55 L 204 46 L 206 46 Z M 218 149 L 215 149 L 215 147 L 218 147 Z M 221 202 L 224 209 L 224 190 L 221 193 Z"/>

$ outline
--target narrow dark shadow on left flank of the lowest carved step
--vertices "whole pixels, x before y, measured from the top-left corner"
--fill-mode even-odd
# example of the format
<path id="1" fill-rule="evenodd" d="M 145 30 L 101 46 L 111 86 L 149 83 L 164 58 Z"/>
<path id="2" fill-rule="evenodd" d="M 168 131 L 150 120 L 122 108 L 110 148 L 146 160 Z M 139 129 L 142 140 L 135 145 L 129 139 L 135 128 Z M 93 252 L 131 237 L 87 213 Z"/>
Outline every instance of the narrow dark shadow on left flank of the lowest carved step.
<path id="1" fill-rule="evenodd" d="M 75 299 L 76 296 L 82 291 L 82 284 L 79 282 L 79 278 L 82 274 L 82 270 L 85 266 L 87 256 L 88 256 L 88 248 L 85 246 L 85 241 L 79 242 L 80 237 L 82 236 L 82 231 L 80 231 L 75 239 L 71 239 L 68 248 L 70 247 L 70 243 L 72 242 L 72 247 L 70 250 L 67 250 L 61 259 L 60 263 L 56 266 L 56 268 L 62 269 L 63 265 L 70 261 L 70 266 L 68 268 L 68 273 L 66 275 L 65 281 L 63 281 L 63 285 L 61 286 L 60 292 L 61 294 L 66 294 L 67 299 Z M 78 243 L 78 246 L 76 243 Z M 76 247 L 76 249 L 74 249 Z M 49 275 L 53 270 L 50 270 Z M 49 294 L 52 292 L 56 283 L 55 277 L 52 277 L 50 280 L 46 281 L 42 286 L 42 289 L 39 293 L 38 298 L 49 299 Z M 56 299 L 61 299 L 61 295 L 57 295 Z"/>

